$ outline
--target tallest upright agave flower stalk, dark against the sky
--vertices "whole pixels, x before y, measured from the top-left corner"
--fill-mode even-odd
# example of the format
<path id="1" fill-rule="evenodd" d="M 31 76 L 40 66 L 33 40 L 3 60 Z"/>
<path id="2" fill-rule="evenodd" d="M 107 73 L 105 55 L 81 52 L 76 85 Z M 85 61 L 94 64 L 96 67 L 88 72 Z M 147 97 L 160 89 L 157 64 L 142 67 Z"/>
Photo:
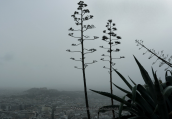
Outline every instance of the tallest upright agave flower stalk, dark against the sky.
<path id="1" fill-rule="evenodd" d="M 72 46 L 81 45 L 81 51 L 71 51 L 69 49 L 67 51 L 68 52 L 79 52 L 79 53 L 81 53 L 81 58 L 79 60 L 76 60 L 75 58 L 70 58 L 70 59 L 75 60 L 75 61 L 81 61 L 82 62 L 82 68 L 78 68 L 77 66 L 75 66 L 75 68 L 82 69 L 82 72 L 83 72 L 85 102 L 86 102 L 86 108 L 87 108 L 86 110 L 87 110 L 88 119 L 90 119 L 90 112 L 89 112 L 89 105 L 88 105 L 88 98 L 87 98 L 87 86 L 86 86 L 85 69 L 88 66 L 88 64 L 92 64 L 92 63 L 95 63 L 97 61 L 96 60 L 93 60 L 93 62 L 91 62 L 91 63 L 85 63 L 85 54 L 93 53 L 93 52 L 96 51 L 96 49 L 94 49 L 94 48 L 92 48 L 92 49 L 86 49 L 86 48 L 84 48 L 84 41 L 85 40 L 95 40 L 98 37 L 97 36 L 94 36 L 93 39 L 88 39 L 89 36 L 84 35 L 84 32 L 87 31 L 88 29 L 95 28 L 94 25 L 84 25 L 83 24 L 84 21 L 87 21 L 89 19 L 92 19 L 93 18 L 93 15 L 84 16 L 86 13 L 89 13 L 90 11 L 88 9 L 84 9 L 87 6 L 87 4 L 85 4 L 83 1 L 80 1 L 78 3 L 78 5 L 79 5 L 78 10 L 80 10 L 80 13 L 77 12 L 77 11 L 75 11 L 74 14 L 71 15 L 71 16 L 74 18 L 74 21 L 75 21 L 76 25 L 80 25 L 81 26 L 81 29 L 74 30 L 73 28 L 70 28 L 69 31 L 80 31 L 81 32 L 81 36 L 80 37 L 75 37 L 75 36 L 73 36 L 73 33 L 69 33 L 69 36 L 78 39 L 78 41 L 80 43 L 79 44 L 72 44 Z M 80 18 L 77 18 L 76 17 L 77 15 L 79 15 Z"/>

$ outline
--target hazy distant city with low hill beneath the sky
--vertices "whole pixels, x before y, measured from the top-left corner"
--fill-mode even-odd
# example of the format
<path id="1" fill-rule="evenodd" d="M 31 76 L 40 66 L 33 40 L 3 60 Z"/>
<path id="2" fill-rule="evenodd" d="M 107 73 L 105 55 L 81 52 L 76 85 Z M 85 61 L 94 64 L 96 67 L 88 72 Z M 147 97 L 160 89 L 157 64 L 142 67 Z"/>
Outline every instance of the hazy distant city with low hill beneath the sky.
<path id="1" fill-rule="evenodd" d="M 8 95 L 1 90 L 0 96 L 0 119 L 87 119 L 82 91 L 58 91 L 44 87 Z M 110 98 L 94 92 L 88 92 L 88 97 L 91 119 L 98 119 L 98 109 L 110 105 Z M 118 109 L 115 111 L 118 117 Z M 99 119 L 111 118 L 111 111 L 99 115 Z"/>

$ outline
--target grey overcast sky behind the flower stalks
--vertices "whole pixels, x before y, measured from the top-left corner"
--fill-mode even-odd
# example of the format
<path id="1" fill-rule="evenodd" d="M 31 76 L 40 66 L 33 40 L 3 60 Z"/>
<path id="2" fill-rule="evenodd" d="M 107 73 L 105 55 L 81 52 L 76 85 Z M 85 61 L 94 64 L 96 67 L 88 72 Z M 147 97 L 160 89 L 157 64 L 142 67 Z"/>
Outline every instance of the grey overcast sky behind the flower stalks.
<path id="1" fill-rule="evenodd" d="M 68 29 L 79 29 L 71 15 L 77 10 L 79 0 L 1 0 L 0 1 L 0 87 L 47 87 L 58 90 L 84 90 L 80 53 L 69 53 L 67 49 L 78 40 L 68 36 Z M 164 69 L 159 62 L 152 65 L 156 57 L 148 59 L 150 53 L 136 46 L 135 40 L 143 40 L 144 45 L 155 51 L 172 53 L 172 1 L 170 0 L 84 0 L 93 19 L 84 22 L 96 28 L 84 32 L 95 41 L 85 41 L 85 48 L 95 48 L 96 52 L 86 55 L 86 62 L 98 62 L 86 68 L 87 88 L 110 91 L 109 74 L 100 60 L 107 51 L 99 46 L 107 46 L 102 41 L 108 19 L 112 19 L 118 29 L 115 33 L 122 37 L 121 44 L 115 46 L 120 52 L 113 57 L 116 68 L 127 80 L 130 76 L 136 83 L 144 84 L 140 70 L 133 58 L 139 60 L 152 77 L 151 66 L 157 70 L 158 77 L 165 81 Z M 76 32 L 76 36 L 80 35 Z M 171 69 L 170 69 L 171 70 Z M 121 78 L 113 72 L 113 82 L 126 87 Z M 114 92 L 117 92 L 114 88 Z"/>

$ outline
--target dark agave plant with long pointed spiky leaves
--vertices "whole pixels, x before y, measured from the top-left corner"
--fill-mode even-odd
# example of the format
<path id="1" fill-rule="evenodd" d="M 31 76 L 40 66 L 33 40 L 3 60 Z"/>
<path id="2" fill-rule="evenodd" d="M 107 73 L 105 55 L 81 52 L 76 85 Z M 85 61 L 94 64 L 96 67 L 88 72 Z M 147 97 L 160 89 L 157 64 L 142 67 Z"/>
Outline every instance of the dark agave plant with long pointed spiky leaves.
<path id="1" fill-rule="evenodd" d="M 172 113 L 172 72 L 170 71 L 171 76 L 167 76 L 167 72 L 169 70 L 166 71 L 166 82 L 159 83 L 156 71 L 154 72 L 152 68 L 155 81 L 155 83 L 153 83 L 147 71 L 136 58 L 135 61 L 138 64 L 146 86 L 144 87 L 141 84 L 134 83 L 134 81 L 129 77 L 131 82 L 134 84 L 134 86 L 132 86 L 118 71 L 115 70 L 131 91 L 127 91 L 114 83 L 113 85 L 115 87 L 126 93 L 123 98 L 107 92 L 91 90 L 120 102 L 120 105 L 101 107 L 98 111 L 98 115 L 100 112 L 111 111 L 118 107 L 119 119 L 124 119 L 124 116 L 121 116 L 123 110 L 131 113 L 131 115 L 125 116 L 125 119 L 169 119 L 169 115 Z M 129 99 L 125 100 L 125 97 L 128 97 Z"/>

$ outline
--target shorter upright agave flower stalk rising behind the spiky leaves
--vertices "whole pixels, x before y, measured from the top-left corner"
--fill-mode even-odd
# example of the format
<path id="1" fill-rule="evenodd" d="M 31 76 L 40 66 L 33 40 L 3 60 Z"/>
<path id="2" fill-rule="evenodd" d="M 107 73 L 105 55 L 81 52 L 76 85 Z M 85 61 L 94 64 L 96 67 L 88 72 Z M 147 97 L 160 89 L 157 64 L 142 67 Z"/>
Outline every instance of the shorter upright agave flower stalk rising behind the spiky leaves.
<path id="1" fill-rule="evenodd" d="M 106 68 L 106 69 L 110 70 L 108 72 L 110 74 L 110 90 L 111 90 L 111 94 L 113 94 L 113 90 L 112 90 L 112 69 L 114 69 L 113 66 L 115 65 L 115 63 L 112 62 L 112 59 L 125 58 L 124 56 L 121 56 L 120 58 L 113 58 L 112 57 L 112 52 L 119 52 L 120 51 L 120 49 L 118 49 L 118 48 L 116 50 L 113 50 L 112 47 L 113 46 L 116 46 L 118 44 L 121 44 L 119 41 L 113 42 L 114 40 L 120 40 L 121 39 L 120 36 L 117 36 L 113 32 L 113 31 L 117 30 L 114 26 L 115 26 L 115 23 L 112 23 L 112 20 L 110 19 L 110 20 L 108 20 L 107 25 L 106 25 L 106 27 L 108 29 L 108 32 L 106 32 L 106 30 L 103 31 L 103 33 L 109 35 L 109 37 L 107 37 L 107 36 L 103 36 L 102 37 L 102 40 L 103 41 L 108 42 L 109 48 L 106 48 L 104 46 L 100 46 L 103 49 L 107 49 L 107 52 L 109 53 L 109 55 L 102 54 L 102 56 L 104 56 L 104 57 L 109 57 L 109 60 L 104 60 L 104 58 L 101 58 L 100 60 L 102 60 L 102 61 L 108 61 L 109 64 L 110 64 L 110 67 L 109 68 L 107 68 L 105 66 L 103 68 Z M 115 37 L 115 39 L 112 39 L 112 37 Z M 111 98 L 111 103 L 113 105 L 113 99 L 112 98 Z M 114 110 L 112 110 L 112 113 L 113 113 L 113 118 L 115 118 Z"/>

